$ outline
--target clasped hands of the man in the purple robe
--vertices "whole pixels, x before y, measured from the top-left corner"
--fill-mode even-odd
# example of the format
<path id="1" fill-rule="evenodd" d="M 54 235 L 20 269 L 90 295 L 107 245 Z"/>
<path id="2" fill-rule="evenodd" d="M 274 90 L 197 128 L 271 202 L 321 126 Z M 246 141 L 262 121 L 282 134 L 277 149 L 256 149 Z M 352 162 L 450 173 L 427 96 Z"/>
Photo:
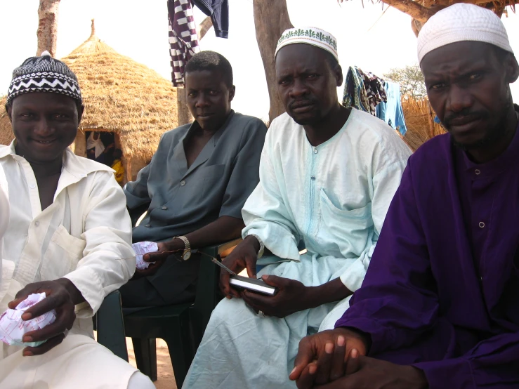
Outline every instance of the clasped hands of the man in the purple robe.
<path id="1" fill-rule="evenodd" d="M 367 339 L 346 328 L 303 338 L 289 378 L 298 389 L 426 389 L 423 372 L 366 357 Z"/>

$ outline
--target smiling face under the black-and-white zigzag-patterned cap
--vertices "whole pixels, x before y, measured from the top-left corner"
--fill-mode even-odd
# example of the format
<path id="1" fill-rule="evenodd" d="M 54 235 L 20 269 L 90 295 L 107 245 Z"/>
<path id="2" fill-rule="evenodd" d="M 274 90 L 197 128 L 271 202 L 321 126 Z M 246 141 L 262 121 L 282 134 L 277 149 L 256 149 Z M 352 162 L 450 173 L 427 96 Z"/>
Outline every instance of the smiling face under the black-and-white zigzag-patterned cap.
<path id="1" fill-rule="evenodd" d="M 16 152 L 27 161 L 45 163 L 63 157 L 76 137 L 83 109 L 66 95 L 48 92 L 24 93 L 8 107 Z"/>

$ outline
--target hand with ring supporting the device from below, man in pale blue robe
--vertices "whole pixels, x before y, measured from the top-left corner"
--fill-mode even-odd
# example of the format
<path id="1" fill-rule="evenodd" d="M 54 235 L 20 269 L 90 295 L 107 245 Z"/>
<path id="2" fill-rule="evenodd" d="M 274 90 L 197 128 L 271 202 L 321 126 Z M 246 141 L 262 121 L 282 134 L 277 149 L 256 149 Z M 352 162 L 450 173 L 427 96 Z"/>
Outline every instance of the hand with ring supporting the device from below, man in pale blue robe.
<path id="1" fill-rule="evenodd" d="M 267 316 L 287 317 L 294 312 L 310 308 L 311 300 L 307 295 L 310 288 L 294 279 L 263 275 L 265 284 L 277 287 L 275 296 L 264 296 L 254 291 L 243 291 L 242 298 L 256 312 L 263 311 Z"/>

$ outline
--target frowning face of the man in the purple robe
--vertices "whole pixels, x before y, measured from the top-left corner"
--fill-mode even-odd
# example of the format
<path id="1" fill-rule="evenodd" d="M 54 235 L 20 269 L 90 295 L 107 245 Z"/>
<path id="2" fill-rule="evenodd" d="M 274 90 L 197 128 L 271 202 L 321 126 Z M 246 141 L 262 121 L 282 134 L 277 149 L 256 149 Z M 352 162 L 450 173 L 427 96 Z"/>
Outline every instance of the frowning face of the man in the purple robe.
<path id="1" fill-rule="evenodd" d="M 517 62 L 490 44 L 462 41 L 437 48 L 421 62 L 431 106 L 466 150 L 494 144 L 506 133 Z"/>

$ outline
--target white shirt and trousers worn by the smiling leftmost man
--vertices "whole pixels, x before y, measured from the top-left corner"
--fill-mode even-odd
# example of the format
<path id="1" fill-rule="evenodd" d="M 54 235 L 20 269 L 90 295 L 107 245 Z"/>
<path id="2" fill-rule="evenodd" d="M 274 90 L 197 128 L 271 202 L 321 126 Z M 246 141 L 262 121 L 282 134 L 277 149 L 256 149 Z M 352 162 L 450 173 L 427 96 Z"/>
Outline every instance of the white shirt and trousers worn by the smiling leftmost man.
<path id="1" fill-rule="evenodd" d="M 93 339 L 92 316 L 135 269 L 131 221 L 112 170 L 70 150 L 53 204 L 41 210 L 29 163 L 0 146 L 10 218 L 4 234 L 0 312 L 23 286 L 66 277 L 85 302 L 63 343 L 44 355 L 0 342 L 0 388 L 126 388 L 137 370 Z M 1 177 L 0 177 L 1 178 Z"/>

